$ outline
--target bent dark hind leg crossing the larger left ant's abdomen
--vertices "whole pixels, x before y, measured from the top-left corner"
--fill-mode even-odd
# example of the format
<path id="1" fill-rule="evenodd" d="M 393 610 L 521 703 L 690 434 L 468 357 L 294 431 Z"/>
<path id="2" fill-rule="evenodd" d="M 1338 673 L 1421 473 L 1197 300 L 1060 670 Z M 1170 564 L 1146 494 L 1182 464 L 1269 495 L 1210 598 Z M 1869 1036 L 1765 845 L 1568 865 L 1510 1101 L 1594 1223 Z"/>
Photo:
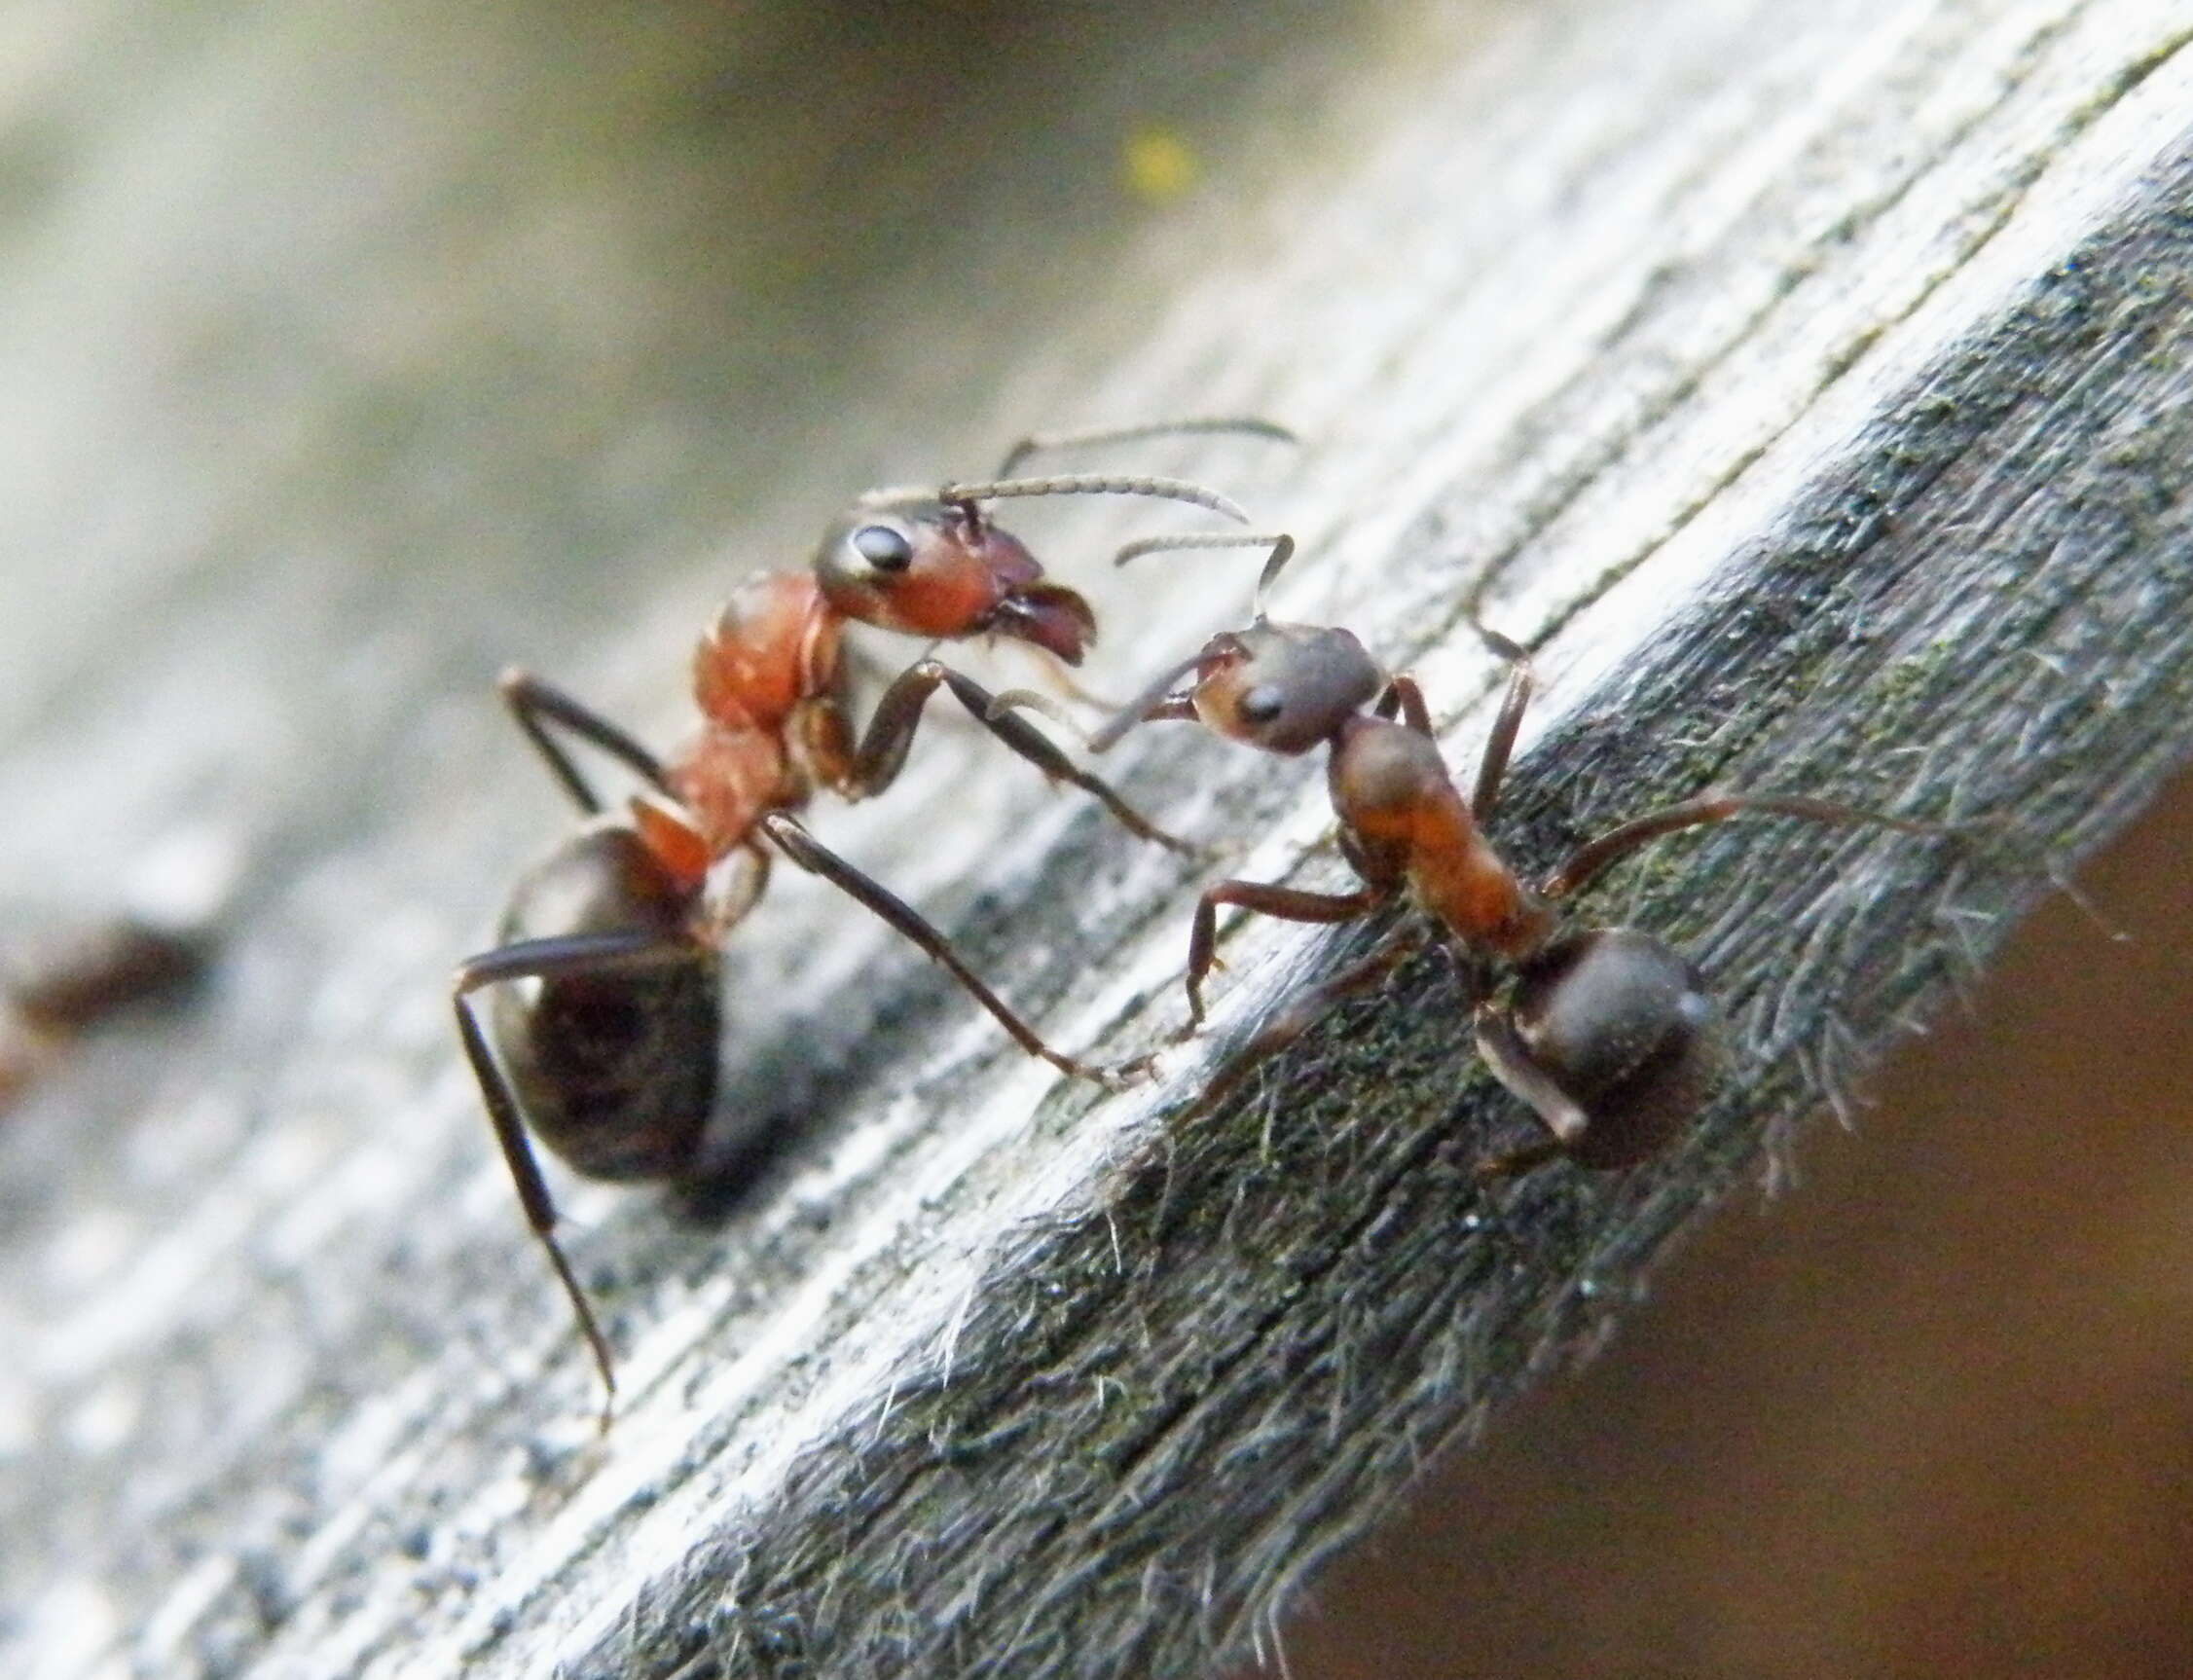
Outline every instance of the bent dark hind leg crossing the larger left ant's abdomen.
<path id="1" fill-rule="evenodd" d="M 601 1371 L 603 1430 L 610 1428 L 610 1417 L 616 1408 L 616 1373 L 610 1366 L 610 1340 L 601 1333 L 601 1325 L 594 1323 L 594 1309 L 588 1305 L 586 1292 L 579 1287 L 579 1279 L 564 1257 L 564 1246 L 555 1239 L 555 1202 L 548 1200 L 548 1182 L 533 1158 L 533 1143 L 526 1138 L 518 1094 L 511 1090 L 502 1064 L 487 1048 L 487 1033 L 480 1029 L 471 994 L 502 980 L 601 974 L 603 969 L 651 967 L 654 963 L 686 958 L 691 958 L 689 945 L 662 939 L 662 934 L 651 930 L 526 939 L 518 945 L 504 945 L 502 950 L 482 952 L 458 963 L 456 983 L 450 989 L 450 1002 L 456 1009 L 456 1033 L 465 1044 L 471 1077 L 480 1081 L 480 1101 L 487 1103 L 487 1119 L 496 1127 L 496 1143 L 502 1145 L 502 1160 L 511 1169 L 511 1182 L 518 1187 L 518 1202 L 526 1211 L 526 1224 L 533 1226 L 533 1235 L 548 1250 L 548 1263 L 564 1283 L 572 1316 L 577 1316 L 586 1344 L 594 1353 L 594 1366 Z"/>

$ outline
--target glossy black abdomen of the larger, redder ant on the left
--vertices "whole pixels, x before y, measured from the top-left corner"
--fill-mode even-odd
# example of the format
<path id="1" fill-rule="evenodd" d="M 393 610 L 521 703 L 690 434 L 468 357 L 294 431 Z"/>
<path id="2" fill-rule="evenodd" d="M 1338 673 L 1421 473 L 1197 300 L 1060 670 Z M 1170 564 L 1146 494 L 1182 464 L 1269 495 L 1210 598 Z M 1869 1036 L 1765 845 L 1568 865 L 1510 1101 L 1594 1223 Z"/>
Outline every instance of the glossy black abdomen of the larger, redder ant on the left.
<path id="1" fill-rule="evenodd" d="M 700 1149 L 715 1094 L 715 952 L 686 937 L 693 893 L 625 825 L 581 829 L 518 884 L 504 947 L 550 961 L 493 998 L 496 1048 L 542 1143 L 588 1178 L 658 1180 Z M 645 965 L 561 967 L 557 941 L 634 934 Z"/>

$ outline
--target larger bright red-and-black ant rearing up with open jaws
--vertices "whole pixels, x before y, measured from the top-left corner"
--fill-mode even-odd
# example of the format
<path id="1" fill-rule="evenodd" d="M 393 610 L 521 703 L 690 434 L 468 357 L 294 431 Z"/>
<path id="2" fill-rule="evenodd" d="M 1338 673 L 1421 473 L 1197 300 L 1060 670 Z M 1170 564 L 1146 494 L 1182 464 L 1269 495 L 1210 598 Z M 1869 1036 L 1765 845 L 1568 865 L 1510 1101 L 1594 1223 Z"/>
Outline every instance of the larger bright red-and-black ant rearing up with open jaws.
<path id="1" fill-rule="evenodd" d="M 1007 636 L 1079 665 L 1096 634 L 1090 605 L 1048 581 L 985 504 L 1011 496 L 1151 496 L 1246 522 L 1230 500 L 1180 478 L 1009 476 L 1035 450 L 1180 432 L 1289 439 L 1254 419 L 1029 436 L 989 483 L 860 496 L 822 533 L 805 570 L 748 579 L 706 629 L 693 656 L 702 726 L 669 761 L 539 678 L 502 676 L 518 728 L 588 822 L 520 879 L 498 947 L 458 965 L 452 1002 L 526 1222 L 601 1371 L 603 1428 L 616 1404 L 610 1344 L 555 1239 L 555 1204 L 526 1130 L 588 1178 L 664 1180 L 697 1162 L 721 1037 L 717 941 L 759 901 L 772 855 L 820 875 L 906 934 L 1031 1055 L 1072 1077 L 1112 1081 L 1050 1048 L 936 928 L 822 847 L 796 811 L 825 790 L 846 801 L 884 792 L 906 763 L 923 706 L 947 689 L 1009 750 L 1099 798 L 1129 833 L 1193 853 L 1042 730 L 993 717 L 989 691 L 936 658 L 917 660 L 884 689 L 855 741 L 840 649 L 846 623 L 864 623 L 939 640 Z M 640 779 L 623 814 L 605 809 L 553 730 Z M 737 879 L 711 893 L 717 864 L 732 858 Z M 474 996 L 487 987 L 496 987 L 491 1031 Z"/>

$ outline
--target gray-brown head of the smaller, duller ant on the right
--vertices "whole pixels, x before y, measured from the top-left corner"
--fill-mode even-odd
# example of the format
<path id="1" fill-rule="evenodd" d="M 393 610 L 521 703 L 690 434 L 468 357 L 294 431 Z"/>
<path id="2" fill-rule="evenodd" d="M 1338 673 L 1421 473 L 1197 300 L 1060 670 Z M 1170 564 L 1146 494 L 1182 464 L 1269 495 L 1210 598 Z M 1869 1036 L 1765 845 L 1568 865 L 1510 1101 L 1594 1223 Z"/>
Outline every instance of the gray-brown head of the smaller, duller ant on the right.
<path id="1" fill-rule="evenodd" d="M 1347 629 L 1276 625 L 1213 636 L 1195 665 L 1195 715 L 1206 728 L 1265 752 L 1307 752 L 1386 689 Z"/>

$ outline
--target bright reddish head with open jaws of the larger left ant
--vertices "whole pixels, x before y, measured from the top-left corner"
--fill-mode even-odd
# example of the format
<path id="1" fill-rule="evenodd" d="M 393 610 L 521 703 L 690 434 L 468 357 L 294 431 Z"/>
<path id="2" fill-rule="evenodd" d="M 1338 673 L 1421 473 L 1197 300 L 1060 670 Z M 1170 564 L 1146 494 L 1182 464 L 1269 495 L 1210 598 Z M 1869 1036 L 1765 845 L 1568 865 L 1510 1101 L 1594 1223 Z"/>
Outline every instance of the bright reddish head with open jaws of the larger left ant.
<path id="1" fill-rule="evenodd" d="M 816 548 L 822 594 L 846 618 L 914 636 L 1018 636 L 1079 665 L 1096 616 L 1044 579 L 1020 537 L 974 500 L 934 491 L 871 491 Z"/>

